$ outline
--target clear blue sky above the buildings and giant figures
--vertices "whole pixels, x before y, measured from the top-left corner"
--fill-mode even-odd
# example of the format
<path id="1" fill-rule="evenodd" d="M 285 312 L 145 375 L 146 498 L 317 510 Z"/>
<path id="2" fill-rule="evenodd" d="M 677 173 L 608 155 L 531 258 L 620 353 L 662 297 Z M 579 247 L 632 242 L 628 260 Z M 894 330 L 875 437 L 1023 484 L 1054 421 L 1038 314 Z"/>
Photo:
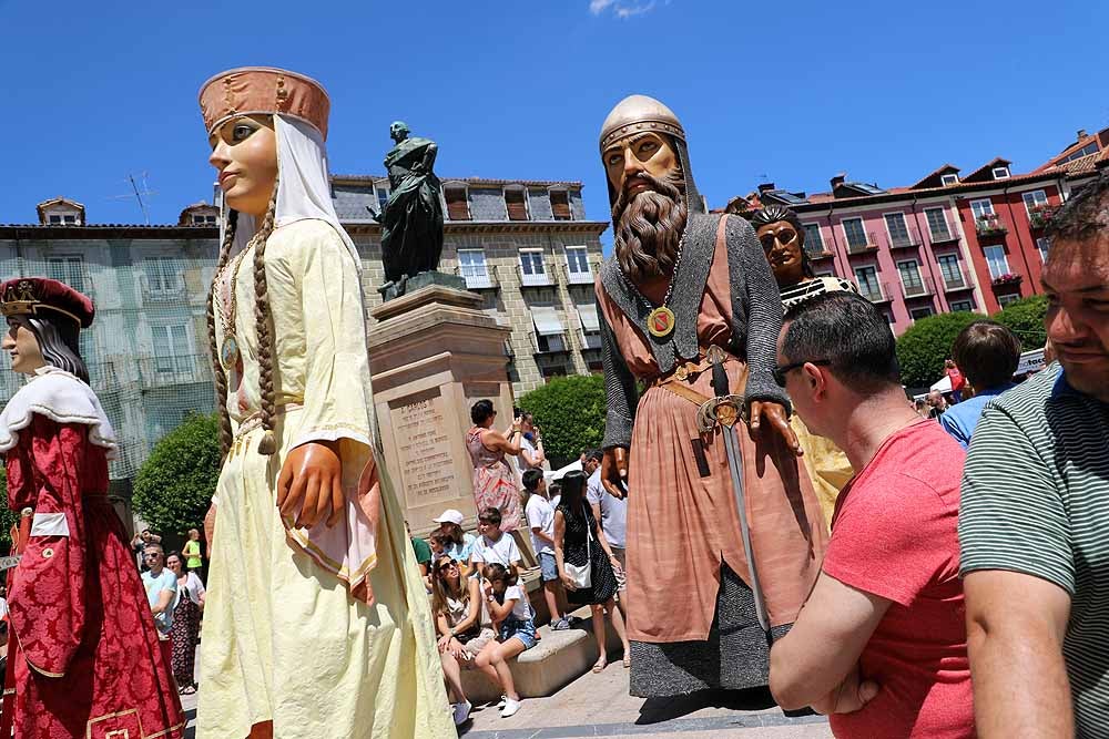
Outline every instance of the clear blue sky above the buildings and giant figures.
<path id="1" fill-rule="evenodd" d="M 175 223 L 212 195 L 197 89 L 245 64 L 327 86 L 334 172 L 380 173 L 401 119 L 439 142 L 440 175 L 578 179 L 594 219 L 598 130 L 637 92 L 682 119 L 713 206 L 764 176 L 894 186 L 995 155 L 1022 172 L 1109 125 L 1101 24 L 1060 1 L 0 0 L 0 223 L 57 195 L 141 222 L 113 198 L 143 172 L 151 220 Z"/>

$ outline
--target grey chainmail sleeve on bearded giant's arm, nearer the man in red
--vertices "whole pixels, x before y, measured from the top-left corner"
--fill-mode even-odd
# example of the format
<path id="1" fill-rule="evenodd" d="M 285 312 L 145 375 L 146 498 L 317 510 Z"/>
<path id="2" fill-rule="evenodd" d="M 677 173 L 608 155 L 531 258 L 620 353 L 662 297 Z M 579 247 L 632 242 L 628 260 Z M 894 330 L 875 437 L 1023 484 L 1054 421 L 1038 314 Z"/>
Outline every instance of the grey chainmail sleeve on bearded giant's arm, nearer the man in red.
<path id="1" fill-rule="evenodd" d="M 739 257 L 746 304 L 747 388 L 744 403 L 752 400 L 782 403 L 791 410 L 790 397 L 774 382 L 777 335 L 782 330 L 782 298 L 774 273 L 763 254 L 754 229 L 746 220 L 728 219 L 729 257 Z"/>

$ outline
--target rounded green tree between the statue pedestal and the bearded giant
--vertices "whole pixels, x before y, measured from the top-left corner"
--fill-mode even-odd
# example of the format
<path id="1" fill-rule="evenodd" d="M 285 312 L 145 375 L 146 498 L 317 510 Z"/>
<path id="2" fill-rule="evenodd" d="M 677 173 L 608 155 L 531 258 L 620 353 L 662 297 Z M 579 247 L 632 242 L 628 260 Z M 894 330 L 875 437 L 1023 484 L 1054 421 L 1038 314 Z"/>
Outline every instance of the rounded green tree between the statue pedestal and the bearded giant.
<path id="1" fill-rule="evenodd" d="M 536 417 L 552 469 L 564 466 L 604 438 L 604 378 L 574 374 L 553 378 L 519 400 Z"/>

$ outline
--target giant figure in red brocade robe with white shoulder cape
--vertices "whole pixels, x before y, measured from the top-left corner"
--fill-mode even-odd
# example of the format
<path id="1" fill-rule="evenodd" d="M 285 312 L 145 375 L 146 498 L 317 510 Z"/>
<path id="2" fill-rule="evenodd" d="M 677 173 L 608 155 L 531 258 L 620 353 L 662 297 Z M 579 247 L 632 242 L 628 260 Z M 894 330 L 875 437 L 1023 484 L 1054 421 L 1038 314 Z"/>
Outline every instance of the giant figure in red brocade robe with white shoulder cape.
<path id="1" fill-rule="evenodd" d="M 29 376 L 0 413 L 8 504 L 20 512 L 8 576 L 0 736 L 179 738 L 184 715 L 123 524 L 108 500 L 115 433 L 78 337 L 92 301 L 52 279 L 0 285 L 3 349 Z"/>

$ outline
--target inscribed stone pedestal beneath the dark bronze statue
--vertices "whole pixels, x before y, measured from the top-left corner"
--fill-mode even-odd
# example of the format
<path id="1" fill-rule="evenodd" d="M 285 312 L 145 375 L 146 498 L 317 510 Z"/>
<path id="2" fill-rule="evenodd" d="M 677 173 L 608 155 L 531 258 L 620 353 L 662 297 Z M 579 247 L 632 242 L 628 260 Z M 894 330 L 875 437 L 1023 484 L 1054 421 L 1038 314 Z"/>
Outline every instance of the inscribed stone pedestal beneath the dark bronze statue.
<path id="1" fill-rule="evenodd" d="M 481 297 L 428 285 L 370 311 L 369 370 L 385 462 L 414 534 L 444 509 L 474 528 L 472 466 L 466 451 L 470 406 L 492 401 L 512 418 L 505 341 L 511 329 L 481 311 Z M 522 514 L 522 506 L 521 506 Z"/>

